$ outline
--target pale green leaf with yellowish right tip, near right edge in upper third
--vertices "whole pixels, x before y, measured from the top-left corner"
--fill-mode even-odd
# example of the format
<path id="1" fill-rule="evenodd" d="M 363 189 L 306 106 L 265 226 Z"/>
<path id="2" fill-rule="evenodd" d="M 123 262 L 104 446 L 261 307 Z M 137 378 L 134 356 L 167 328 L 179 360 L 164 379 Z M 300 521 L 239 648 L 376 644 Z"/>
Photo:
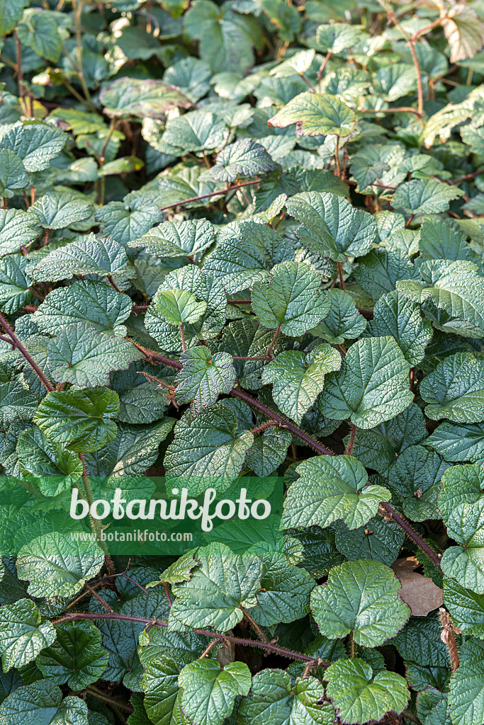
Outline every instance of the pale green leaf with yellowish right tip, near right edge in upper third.
<path id="1" fill-rule="evenodd" d="M 462 189 L 442 181 L 412 179 L 402 183 L 395 191 L 392 206 L 395 211 L 403 210 L 407 214 L 436 214 L 446 212 L 450 202 L 463 195 Z"/>

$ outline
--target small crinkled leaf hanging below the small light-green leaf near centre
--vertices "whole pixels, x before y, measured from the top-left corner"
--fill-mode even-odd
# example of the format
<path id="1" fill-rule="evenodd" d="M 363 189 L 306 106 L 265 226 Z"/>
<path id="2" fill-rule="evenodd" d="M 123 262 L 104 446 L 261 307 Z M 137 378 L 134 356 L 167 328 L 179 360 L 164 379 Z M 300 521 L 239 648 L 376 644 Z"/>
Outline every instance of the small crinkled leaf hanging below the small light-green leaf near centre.
<path id="1" fill-rule="evenodd" d="M 192 402 L 194 413 L 213 405 L 222 393 L 229 393 L 236 379 L 232 357 L 227 352 L 214 355 L 200 345 L 181 355 L 182 370 L 176 376 L 178 402 Z"/>

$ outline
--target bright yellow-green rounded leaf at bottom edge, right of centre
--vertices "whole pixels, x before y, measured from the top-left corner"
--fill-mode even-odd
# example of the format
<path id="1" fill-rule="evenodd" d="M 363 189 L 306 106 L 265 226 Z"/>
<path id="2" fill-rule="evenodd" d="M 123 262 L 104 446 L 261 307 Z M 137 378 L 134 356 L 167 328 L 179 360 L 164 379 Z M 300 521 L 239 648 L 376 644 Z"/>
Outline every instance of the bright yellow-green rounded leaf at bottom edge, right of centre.
<path id="1" fill-rule="evenodd" d="M 409 702 L 406 682 L 396 672 L 377 672 L 364 660 L 339 660 L 324 673 L 327 696 L 343 722 L 366 723 L 385 713 L 397 715 Z"/>

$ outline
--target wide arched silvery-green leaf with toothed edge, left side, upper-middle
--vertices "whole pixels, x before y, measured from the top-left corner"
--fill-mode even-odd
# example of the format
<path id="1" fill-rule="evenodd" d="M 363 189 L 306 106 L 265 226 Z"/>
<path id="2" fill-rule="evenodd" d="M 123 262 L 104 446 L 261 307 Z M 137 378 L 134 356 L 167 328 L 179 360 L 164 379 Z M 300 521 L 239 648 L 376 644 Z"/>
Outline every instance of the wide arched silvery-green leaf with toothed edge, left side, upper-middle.
<path id="1" fill-rule="evenodd" d="M 57 282 L 88 274 L 107 277 L 123 270 L 127 263 L 126 252 L 117 241 L 109 236 L 86 234 L 54 249 L 30 273 L 39 282 Z"/>

